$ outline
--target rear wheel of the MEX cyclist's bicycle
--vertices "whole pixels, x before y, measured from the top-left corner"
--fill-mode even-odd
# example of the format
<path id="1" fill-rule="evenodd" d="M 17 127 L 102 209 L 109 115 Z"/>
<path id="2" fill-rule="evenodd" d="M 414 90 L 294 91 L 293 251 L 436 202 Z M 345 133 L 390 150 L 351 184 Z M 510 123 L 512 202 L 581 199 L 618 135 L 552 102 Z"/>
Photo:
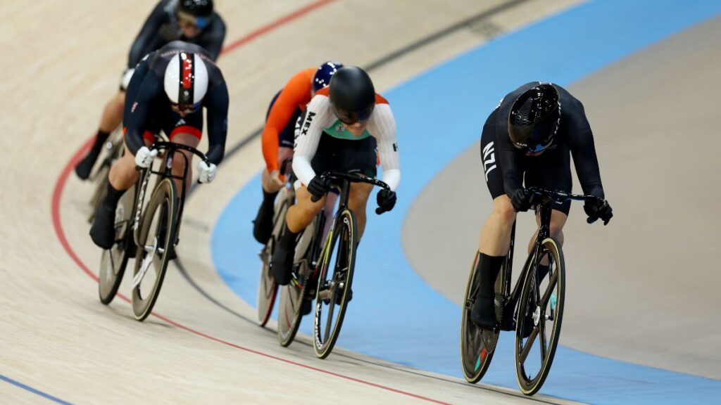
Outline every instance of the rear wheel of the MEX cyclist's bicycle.
<path id="1" fill-rule="evenodd" d="M 309 263 L 313 256 L 311 252 L 311 239 L 315 233 L 316 221 L 311 222 L 296 244 L 296 254 L 293 267 L 298 263 L 296 272 L 293 272 L 291 282 L 280 288 L 280 303 L 278 303 L 278 342 L 287 347 L 296 338 L 298 327 L 303 319 L 303 306 L 309 299 L 311 269 Z"/>

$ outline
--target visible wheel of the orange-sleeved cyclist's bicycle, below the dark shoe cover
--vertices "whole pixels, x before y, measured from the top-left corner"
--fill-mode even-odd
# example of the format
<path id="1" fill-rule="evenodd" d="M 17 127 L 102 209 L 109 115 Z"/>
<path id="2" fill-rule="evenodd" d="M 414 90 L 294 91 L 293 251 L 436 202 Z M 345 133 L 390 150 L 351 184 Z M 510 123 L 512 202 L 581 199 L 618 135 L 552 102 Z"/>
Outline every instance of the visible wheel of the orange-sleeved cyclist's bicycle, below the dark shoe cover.
<path id="1" fill-rule="evenodd" d="M 258 282 L 258 324 L 265 326 L 270 313 L 273 312 L 275 304 L 275 296 L 278 295 L 278 284 L 275 282 L 273 275 L 270 274 L 270 257 L 273 257 L 273 248 L 280 239 L 280 233 L 286 227 L 286 213 L 288 212 L 287 189 L 283 187 L 278 193 L 278 202 L 275 203 L 275 213 L 273 215 L 273 234 L 270 240 L 260 251 L 260 282 Z"/>

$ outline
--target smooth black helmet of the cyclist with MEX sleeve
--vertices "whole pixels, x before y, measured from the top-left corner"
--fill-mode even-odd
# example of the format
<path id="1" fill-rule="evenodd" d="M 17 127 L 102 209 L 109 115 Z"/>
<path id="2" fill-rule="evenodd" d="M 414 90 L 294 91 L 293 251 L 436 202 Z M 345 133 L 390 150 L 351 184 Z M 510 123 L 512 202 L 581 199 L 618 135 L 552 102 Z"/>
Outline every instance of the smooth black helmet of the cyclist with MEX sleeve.
<path id="1" fill-rule="evenodd" d="M 330 106 L 342 123 L 366 122 L 376 107 L 376 89 L 371 76 L 358 66 L 338 69 L 330 79 Z"/>

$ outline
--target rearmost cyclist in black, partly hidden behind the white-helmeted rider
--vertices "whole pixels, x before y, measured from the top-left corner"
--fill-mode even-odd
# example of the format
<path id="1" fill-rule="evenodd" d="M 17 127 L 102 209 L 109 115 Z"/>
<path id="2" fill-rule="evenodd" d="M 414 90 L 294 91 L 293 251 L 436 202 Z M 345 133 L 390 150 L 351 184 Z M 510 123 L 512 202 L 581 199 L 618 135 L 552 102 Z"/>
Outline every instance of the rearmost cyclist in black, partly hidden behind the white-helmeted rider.
<path id="1" fill-rule="evenodd" d="M 125 89 L 133 76 L 136 65 L 143 56 L 174 40 L 200 45 L 216 61 L 223 47 L 226 27 L 221 17 L 213 11 L 213 0 L 162 0 L 146 19 L 138 37 L 131 46 L 128 66 L 120 80 L 120 91 L 103 110 L 100 127 L 89 153 L 75 166 L 81 179 L 87 179 L 102 145 L 110 132 L 123 119 Z"/>

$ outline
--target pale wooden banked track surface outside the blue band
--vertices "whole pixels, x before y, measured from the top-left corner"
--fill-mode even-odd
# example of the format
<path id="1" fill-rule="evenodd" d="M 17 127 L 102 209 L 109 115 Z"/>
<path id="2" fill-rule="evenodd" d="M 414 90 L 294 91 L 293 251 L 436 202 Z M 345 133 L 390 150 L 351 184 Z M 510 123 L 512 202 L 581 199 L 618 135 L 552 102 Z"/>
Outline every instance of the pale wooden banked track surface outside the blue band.
<path id="1" fill-rule="evenodd" d="M 219 66 L 236 153 L 187 201 L 178 254 L 205 293 L 250 321 L 221 311 L 171 265 L 156 316 L 138 323 L 122 297 L 109 307 L 97 300 L 100 252 L 85 221 L 92 185 L 70 169 L 151 3 L 0 3 L 0 375 L 14 381 L 0 382 L 1 403 L 562 402 L 341 348 L 324 361 L 303 344 L 283 349 L 219 279 L 208 241 L 226 201 L 262 167 L 248 137 L 295 71 L 327 59 L 371 67 L 382 91 L 577 0 L 216 1 L 228 26 Z"/>

